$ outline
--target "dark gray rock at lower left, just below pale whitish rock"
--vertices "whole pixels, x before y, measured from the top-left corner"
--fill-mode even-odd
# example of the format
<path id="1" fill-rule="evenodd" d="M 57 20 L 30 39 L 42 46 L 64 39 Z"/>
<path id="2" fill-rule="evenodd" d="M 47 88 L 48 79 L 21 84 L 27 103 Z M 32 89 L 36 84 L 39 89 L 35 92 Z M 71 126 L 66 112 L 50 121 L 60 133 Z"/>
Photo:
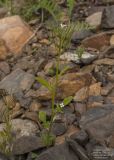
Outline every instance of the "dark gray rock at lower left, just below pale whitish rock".
<path id="1" fill-rule="evenodd" d="M 21 155 L 44 148 L 42 139 L 37 136 L 23 136 L 15 140 L 13 145 L 13 154 Z"/>

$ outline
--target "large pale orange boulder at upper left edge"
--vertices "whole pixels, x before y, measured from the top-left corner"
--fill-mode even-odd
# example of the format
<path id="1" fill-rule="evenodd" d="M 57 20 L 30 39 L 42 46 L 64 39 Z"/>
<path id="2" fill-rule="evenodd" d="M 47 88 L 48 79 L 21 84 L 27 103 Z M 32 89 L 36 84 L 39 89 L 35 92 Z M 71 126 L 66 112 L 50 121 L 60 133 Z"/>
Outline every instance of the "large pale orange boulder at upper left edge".
<path id="1" fill-rule="evenodd" d="M 22 21 L 19 16 L 11 16 L 0 19 L 0 38 L 4 40 L 4 47 L 8 49 L 13 55 L 21 54 L 22 48 L 33 36 L 31 29 Z M 6 55 L 8 52 L 2 53 Z M 2 55 L 0 54 L 0 59 Z"/>

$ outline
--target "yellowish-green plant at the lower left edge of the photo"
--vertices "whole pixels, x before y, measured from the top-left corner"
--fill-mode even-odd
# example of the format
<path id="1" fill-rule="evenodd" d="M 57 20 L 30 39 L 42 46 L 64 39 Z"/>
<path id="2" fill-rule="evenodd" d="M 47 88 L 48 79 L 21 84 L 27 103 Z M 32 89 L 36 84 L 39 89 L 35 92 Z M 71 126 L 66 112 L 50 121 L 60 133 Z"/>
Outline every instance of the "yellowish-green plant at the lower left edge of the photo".
<path id="1" fill-rule="evenodd" d="M 0 131 L 0 151 L 7 156 L 11 156 L 14 137 L 12 135 L 12 123 L 10 118 L 10 110 L 5 98 L 4 98 L 4 102 L 6 104 L 6 109 L 2 116 L 2 119 L 4 121 L 4 127 L 3 127 L 3 130 Z"/>

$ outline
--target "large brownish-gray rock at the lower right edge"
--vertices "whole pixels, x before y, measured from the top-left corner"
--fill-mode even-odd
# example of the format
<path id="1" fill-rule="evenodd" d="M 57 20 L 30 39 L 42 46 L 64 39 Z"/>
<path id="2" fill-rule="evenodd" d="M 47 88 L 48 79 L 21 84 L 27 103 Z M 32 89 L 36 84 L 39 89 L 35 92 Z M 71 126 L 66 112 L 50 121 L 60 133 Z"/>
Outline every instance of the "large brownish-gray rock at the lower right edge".
<path id="1" fill-rule="evenodd" d="M 90 137 L 103 142 L 114 132 L 114 105 L 103 105 L 101 108 L 88 110 L 79 123 Z"/>

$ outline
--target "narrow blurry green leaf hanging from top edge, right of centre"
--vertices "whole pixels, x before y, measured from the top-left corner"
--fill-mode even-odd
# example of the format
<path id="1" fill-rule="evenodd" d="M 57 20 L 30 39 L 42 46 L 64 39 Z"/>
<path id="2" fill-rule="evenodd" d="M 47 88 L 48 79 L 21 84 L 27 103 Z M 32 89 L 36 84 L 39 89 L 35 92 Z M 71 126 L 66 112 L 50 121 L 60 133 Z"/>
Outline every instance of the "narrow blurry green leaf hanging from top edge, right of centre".
<path id="1" fill-rule="evenodd" d="M 74 9 L 74 5 L 75 5 L 75 0 L 67 0 L 68 15 L 69 15 L 70 19 L 72 16 L 72 11 Z"/>

